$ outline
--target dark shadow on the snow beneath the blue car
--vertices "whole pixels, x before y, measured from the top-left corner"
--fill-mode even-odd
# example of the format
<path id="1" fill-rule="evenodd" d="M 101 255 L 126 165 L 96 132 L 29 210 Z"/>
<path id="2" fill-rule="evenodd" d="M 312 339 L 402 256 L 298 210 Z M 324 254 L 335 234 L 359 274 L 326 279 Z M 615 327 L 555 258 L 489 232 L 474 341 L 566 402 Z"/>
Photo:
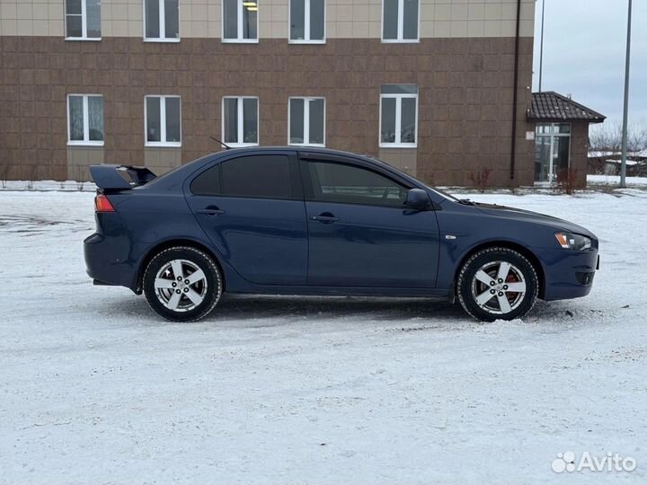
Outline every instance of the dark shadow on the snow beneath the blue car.
<path id="1" fill-rule="evenodd" d="M 136 321 L 154 326 L 172 324 L 156 316 L 143 297 L 129 296 L 119 304 L 112 301 L 105 305 L 110 308 L 97 308 L 97 311 L 109 313 L 120 322 Z M 561 302 L 538 301 L 523 322 L 545 326 L 545 330 L 550 331 L 554 324 L 567 328 L 572 324 L 590 323 L 596 316 L 600 315 Z M 262 328 L 298 322 L 392 323 L 393 331 L 431 330 L 447 325 L 463 327 L 465 324 L 472 328 L 482 324 L 469 317 L 460 304 L 430 298 L 284 295 L 223 295 L 214 311 L 197 323 Z"/>

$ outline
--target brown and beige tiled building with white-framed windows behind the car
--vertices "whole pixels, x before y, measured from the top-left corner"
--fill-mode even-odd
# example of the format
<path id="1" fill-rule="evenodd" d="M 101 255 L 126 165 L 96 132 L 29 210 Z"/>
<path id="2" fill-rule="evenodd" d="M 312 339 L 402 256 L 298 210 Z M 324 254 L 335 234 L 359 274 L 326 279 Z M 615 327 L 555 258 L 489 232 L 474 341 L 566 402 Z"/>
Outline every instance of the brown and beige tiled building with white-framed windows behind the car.
<path id="1" fill-rule="evenodd" d="M 480 168 L 532 184 L 534 13 L 535 0 L 0 0 L 0 163 L 9 179 L 164 172 L 219 150 L 213 136 L 373 154 L 441 185 Z"/>

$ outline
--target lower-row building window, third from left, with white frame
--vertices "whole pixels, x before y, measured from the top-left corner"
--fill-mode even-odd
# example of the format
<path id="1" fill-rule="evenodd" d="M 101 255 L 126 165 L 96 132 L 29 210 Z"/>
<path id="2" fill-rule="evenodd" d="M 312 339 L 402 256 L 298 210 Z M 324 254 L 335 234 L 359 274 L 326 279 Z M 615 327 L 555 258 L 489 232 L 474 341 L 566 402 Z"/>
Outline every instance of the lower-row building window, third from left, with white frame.
<path id="1" fill-rule="evenodd" d="M 258 98 L 223 98 L 223 141 L 231 146 L 258 145 Z"/>

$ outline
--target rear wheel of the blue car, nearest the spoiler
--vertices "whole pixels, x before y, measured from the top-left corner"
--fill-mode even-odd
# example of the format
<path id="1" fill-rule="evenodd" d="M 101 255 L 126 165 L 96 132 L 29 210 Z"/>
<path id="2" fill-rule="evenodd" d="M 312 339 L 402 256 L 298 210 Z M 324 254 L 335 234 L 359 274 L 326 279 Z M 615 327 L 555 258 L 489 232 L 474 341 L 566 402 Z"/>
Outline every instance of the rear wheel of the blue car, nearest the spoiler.
<path id="1" fill-rule="evenodd" d="M 218 303 L 222 278 L 206 252 L 178 246 L 150 260 L 143 287 L 146 302 L 155 313 L 173 322 L 194 322 Z"/>

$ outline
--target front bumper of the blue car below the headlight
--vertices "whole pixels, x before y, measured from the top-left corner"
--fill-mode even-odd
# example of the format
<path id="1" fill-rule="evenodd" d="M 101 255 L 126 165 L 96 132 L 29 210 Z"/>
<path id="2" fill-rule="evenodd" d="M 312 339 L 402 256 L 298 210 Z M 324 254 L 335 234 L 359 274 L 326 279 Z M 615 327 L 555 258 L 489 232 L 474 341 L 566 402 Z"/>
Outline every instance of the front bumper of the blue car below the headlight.
<path id="1" fill-rule="evenodd" d="M 535 252 L 544 266 L 545 300 L 589 295 L 598 269 L 598 251 L 540 249 Z"/>

